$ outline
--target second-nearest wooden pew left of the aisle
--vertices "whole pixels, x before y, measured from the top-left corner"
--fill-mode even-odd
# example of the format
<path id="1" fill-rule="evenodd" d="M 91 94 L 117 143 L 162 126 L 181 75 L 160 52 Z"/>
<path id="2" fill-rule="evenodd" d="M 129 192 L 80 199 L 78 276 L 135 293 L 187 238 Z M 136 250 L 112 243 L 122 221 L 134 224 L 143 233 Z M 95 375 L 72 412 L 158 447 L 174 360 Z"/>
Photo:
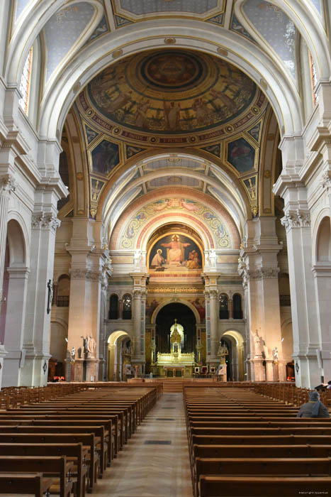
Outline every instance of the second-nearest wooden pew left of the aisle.
<path id="1" fill-rule="evenodd" d="M 66 456 L 0 456 L 1 471 L 42 473 L 44 476 L 59 480 L 58 484 L 53 481 L 50 493 L 59 493 L 60 497 L 70 497 L 72 491 L 70 471 L 73 465 L 72 461 L 67 461 Z"/>

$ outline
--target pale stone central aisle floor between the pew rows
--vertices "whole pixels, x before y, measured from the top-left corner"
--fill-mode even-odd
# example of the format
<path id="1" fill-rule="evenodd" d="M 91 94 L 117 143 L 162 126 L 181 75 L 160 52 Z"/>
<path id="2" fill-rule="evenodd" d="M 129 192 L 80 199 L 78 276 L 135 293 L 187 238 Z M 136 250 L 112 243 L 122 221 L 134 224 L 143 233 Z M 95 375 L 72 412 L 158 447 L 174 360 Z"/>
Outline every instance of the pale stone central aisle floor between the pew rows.
<path id="1" fill-rule="evenodd" d="M 192 497 L 182 393 L 164 393 L 102 480 L 99 497 Z"/>

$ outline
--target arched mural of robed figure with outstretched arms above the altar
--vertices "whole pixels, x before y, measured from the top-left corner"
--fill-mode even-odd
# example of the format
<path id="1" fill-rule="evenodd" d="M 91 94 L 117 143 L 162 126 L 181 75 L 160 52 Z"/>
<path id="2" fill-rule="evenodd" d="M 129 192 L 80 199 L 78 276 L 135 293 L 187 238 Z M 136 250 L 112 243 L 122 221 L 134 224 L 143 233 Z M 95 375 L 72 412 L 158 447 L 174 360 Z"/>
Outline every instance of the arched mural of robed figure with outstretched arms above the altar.
<path id="1" fill-rule="evenodd" d="M 162 236 L 150 250 L 149 268 L 159 273 L 201 270 L 201 250 L 189 236 L 176 233 Z"/>

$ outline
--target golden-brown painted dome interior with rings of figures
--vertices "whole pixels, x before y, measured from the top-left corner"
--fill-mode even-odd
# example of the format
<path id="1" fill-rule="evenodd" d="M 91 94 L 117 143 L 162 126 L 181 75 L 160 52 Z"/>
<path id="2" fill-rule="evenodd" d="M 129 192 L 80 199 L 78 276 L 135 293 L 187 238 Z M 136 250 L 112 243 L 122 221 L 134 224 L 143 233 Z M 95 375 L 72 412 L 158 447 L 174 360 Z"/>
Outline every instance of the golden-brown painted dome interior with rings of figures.
<path id="1" fill-rule="evenodd" d="M 263 100 L 254 82 L 233 65 L 185 50 L 125 58 L 99 73 L 79 97 L 86 117 L 118 137 L 123 129 L 153 135 L 214 130 L 253 106 L 257 114 Z"/>

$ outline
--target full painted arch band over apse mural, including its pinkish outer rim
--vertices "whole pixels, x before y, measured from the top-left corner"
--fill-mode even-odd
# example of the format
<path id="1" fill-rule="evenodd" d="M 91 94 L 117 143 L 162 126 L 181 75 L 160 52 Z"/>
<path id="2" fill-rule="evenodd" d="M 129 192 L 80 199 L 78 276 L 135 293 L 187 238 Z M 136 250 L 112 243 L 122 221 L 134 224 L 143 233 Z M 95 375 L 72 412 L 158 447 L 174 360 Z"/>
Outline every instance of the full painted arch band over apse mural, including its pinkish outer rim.
<path id="1" fill-rule="evenodd" d="M 164 224 L 175 217 L 186 217 L 186 222 L 191 219 L 197 226 L 204 226 L 204 230 L 210 233 L 215 248 L 232 247 L 230 230 L 218 213 L 197 200 L 169 196 L 144 204 L 125 220 L 118 236 L 118 249 L 135 249 L 146 226 Z"/>

